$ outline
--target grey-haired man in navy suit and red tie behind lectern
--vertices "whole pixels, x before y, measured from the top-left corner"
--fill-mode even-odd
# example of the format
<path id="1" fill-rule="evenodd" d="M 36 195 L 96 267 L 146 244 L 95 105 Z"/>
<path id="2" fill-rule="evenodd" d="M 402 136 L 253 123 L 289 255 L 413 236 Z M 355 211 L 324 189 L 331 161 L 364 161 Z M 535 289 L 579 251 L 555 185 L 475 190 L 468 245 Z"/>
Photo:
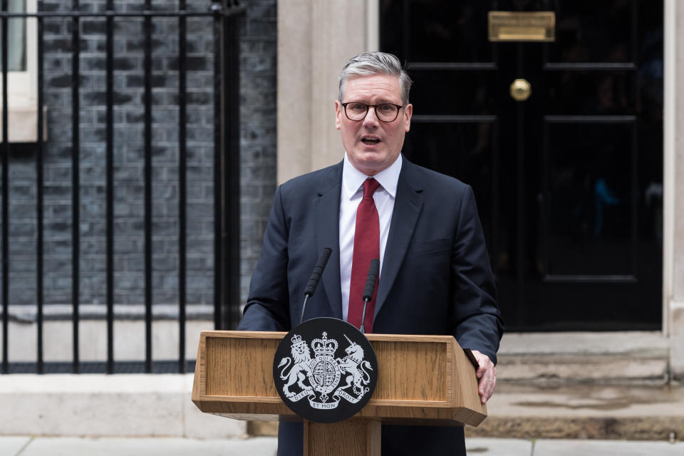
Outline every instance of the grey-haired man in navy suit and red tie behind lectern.
<path id="1" fill-rule="evenodd" d="M 401 156 L 413 113 L 410 84 L 390 54 L 361 53 L 346 63 L 335 102 L 344 159 L 276 190 L 239 329 L 289 331 L 299 324 L 306 282 L 325 247 L 333 253 L 305 318 L 360 326 L 358 278 L 365 284 L 368 259 L 379 257 L 366 331 L 452 334 L 480 363 L 486 403 L 496 384 L 502 324 L 475 198 L 462 182 Z M 382 449 L 465 455 L 459 427 L 383 425 Z M 301 452 L 301 423 L 280 423 L 278 454 Z"/>

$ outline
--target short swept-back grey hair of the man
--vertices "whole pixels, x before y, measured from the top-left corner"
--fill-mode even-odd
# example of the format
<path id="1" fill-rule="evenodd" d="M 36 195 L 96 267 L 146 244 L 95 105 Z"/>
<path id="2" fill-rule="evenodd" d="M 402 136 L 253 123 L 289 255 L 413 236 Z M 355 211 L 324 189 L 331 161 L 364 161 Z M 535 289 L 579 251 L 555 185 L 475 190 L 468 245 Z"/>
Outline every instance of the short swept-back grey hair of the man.
<path id="1" fill-rule="evenodd" d="M 401 101 L 403 104 L 408 105 L 408 92 L 413 81 L 411 81 L 408 73 L 401 66 L 399 59 L 392 54 L 384 52 L 362 52 L 358 56 L 350 58 L 344 64 L 342 73 L 340 73 L 340 88 L 337 95 L 340 103 L 342 102 L 344 89 L 349 78 L 375 74 L 396 76 L 399 79 L 399 87 L 401 88 Z"/>

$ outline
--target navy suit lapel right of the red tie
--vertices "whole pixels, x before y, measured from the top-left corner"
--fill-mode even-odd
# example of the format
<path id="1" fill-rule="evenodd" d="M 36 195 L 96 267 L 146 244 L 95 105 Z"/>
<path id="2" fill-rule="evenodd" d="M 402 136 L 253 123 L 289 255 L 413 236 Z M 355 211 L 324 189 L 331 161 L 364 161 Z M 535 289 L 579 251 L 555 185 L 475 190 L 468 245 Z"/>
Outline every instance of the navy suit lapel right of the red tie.
<path id="1" fill-rule="evenodd" d="M 401 267 L 413 237 L 415 222 L 418 221 L 420 209 L 423 207 L 423 186 L 415 175 L 415 165 L 403 158 L 401 173 L 397 184 L 397 196 L 392 212 L 390 232 L 385 247 L 383 270 L 380 272 L 378 296 L 375 299 L 375 316 L 385 304 L 388 294 Z"/>

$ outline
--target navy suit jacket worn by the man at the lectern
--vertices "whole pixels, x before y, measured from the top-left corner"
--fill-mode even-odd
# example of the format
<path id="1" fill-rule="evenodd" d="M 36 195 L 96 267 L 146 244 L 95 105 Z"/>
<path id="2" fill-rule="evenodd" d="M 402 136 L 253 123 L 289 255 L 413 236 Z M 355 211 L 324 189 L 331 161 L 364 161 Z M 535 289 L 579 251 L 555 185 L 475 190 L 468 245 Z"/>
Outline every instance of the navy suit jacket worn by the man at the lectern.
<path id="1" fill-rule="evenodd" d="M 325 247 L 332 254 L 305 318 L 342 318 L 341 183 L 342 162 L 277 188 L 239 329 L 299 324 L 304 288 Z M 472 189 L 403 158 L 373 332 L 452 334 L 496 363 L 502 331 Z M 465 454 L 462 428 L 383 425 L 382 432 L 383 455 Z M 281 423 L 279 455 L 301 455 L 301 445 L 301 423 Z"/>

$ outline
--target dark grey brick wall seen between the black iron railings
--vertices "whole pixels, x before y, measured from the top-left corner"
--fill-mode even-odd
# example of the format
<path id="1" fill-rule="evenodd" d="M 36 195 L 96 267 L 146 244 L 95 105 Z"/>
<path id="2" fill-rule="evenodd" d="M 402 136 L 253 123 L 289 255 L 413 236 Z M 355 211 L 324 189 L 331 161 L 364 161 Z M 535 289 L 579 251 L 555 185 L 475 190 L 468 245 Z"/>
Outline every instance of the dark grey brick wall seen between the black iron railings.
<path id="1" fill-rule="evenodd" d="M 176 9 L 177 1 L 153 1 Z M 188 1 L 192 9 L 210 1 Z M 116 0 L 118 11 L 141 0 Z M 241 35 L 241 295 L 261 249 L 276 181 L 276 1 L 247 0 Z M 43 1 L 68 11 L 71 1 Z M 84 11 L 103 0 L 81 0 Z M 177 304 L 177 19 L 153 26 L 153 300 Z M 105 303 L 105 21 L 81 19 L 79 167 L 81 304 Z M 211 18 L 187 19 L 187 301 L 213 304 L 213 41 Z M 115 304 L 144 303 L 142 19 L 115 20 Z M 44 287 L 46 304 L 71 304 L 71 21 L 45 21 Z M 31 145 L 10 158 L 10 304 L 36 301 L 36 171 Z"/>

